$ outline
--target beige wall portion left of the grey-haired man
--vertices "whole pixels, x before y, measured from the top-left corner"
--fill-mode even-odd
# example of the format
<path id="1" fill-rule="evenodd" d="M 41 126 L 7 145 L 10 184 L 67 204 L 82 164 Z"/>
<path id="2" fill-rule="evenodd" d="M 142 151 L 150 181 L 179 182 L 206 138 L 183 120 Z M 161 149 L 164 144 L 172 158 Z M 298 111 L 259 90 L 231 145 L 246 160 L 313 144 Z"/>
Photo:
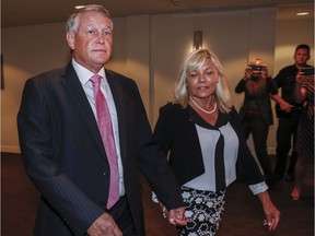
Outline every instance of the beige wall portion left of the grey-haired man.
<path id="1" fill-rule="evenodd" d="M 68 61 L 65 24 L 2 28 L 1 151 L 19 152 L 16 114 L 27 78 Z"/>

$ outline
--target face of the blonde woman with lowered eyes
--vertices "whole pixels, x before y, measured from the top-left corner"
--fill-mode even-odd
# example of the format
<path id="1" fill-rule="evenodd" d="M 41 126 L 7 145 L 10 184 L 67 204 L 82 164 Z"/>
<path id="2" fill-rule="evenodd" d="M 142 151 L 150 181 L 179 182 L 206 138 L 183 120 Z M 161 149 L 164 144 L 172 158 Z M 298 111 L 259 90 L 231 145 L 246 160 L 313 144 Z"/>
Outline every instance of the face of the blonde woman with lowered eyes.
<path id="1" fill-rule="evenodd" d="M 218 82 L 218 71 L 210 58 L 203 64 L 187 76 L 189 95 L 192 98 L 203 99 L 214 95 Z"/>

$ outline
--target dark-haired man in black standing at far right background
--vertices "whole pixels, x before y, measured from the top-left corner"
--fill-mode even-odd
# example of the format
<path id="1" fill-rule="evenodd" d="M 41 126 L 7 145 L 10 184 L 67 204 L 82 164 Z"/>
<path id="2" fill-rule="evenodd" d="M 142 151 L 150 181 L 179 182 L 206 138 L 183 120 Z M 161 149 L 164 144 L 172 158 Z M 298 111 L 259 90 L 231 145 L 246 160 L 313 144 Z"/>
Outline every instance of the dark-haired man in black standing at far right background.
<path id="1" fill-rule="evenodd" d="M 298 160 L 295 152 L 295 139 L 299 121 L 302 115 L 302 103 L 294 99 L 295 78 L 301 68 L 310 67 L 306 62 L 310 59 L 310 46 L 301 44 L 295 48 L 293 56 L 294 64 L 284 67 L 273 79 L 278 88 L 281 88 L 281 97 L 276 95 L 272 99 L 277 102 L 276 111 L 279 118 L 277 130 L 277 163 L 273 173 L 273 179 L 280 180 L 284 177 L 287 168 L 288 154 L 291 150 L 292 137 L 293 149 L 288 168 L 285 181 L 294 181 L 294 167 Z"/>

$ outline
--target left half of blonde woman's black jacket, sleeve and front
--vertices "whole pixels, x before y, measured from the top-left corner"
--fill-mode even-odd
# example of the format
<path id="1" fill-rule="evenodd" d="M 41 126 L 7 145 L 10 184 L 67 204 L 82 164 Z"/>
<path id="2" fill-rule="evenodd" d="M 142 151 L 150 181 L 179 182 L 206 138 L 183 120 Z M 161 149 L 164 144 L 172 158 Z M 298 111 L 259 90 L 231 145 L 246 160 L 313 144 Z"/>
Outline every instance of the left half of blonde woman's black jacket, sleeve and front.
<path id="1" fill-rule="evenodd" d="M 154 128 L 154 138 L 168 154 L 170 165 L 180 185 L 205 173 L 197 130 L 187 108 L 172 103 L 163 106 Z"/>

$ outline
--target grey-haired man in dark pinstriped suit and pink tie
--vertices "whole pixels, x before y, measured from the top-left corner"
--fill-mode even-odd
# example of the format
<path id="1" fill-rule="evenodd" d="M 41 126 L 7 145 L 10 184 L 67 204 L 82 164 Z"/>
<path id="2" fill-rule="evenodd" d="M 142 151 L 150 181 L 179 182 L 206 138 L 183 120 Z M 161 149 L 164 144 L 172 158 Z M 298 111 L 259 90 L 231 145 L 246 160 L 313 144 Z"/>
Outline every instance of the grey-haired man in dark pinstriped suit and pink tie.
<path id="1" fill-rule="evenodd" d="M 18 127 L 26 173 L 40 192 L 34 235 L 144 235 L 139 170 L 170 210 L 170 223 L 186 223 L 179 186 L 152 140 L 136 83 L 104 69 L 112 33 L 106 9 L 78 10 L 67 22 L 72 60 L 25 83 Z M 98 123 L 103 117 L 97 116 L 91 81 L 95 74 L 102 76 L 102 97 L 110 114 L 105 123 L 113 123 L 117 186 L 110 182 L 113 156 Z M 113 206 L 109 185 L 119 191 Z"/>

